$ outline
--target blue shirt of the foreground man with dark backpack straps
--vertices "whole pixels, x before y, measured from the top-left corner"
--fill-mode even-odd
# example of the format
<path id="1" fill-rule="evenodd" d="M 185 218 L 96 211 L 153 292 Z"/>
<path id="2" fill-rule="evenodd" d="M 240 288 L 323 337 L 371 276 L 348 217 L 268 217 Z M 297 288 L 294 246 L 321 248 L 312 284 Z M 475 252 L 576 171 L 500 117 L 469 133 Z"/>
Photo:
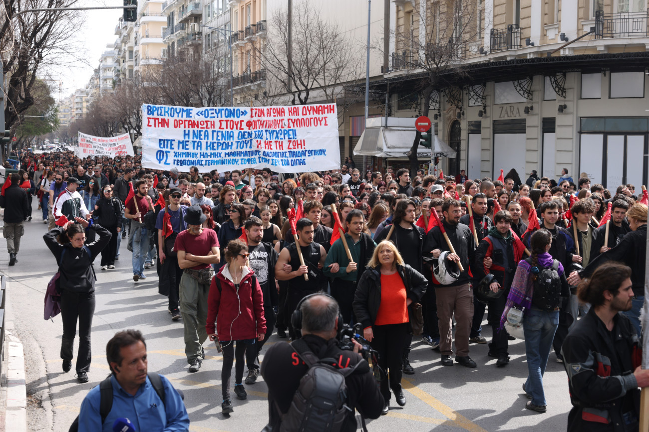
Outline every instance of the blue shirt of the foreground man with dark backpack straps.
<path id="1" fill-rule="evenodd" d="M 190 418 L 180 394 L 164 376 L 162 385 L 165 390 L 165 403 L 156 393 L 149 377 L 135 396 L 127 393 L 117 382 L 115 376 L 110 378 L 113 385 L 113 406 L 101 424 L 99 414 L 99 385 L 95 386 L 84 398 L 79 412 L 79 432 L 112 432 L 117 418 L 128 418 L 136 431 L 146 432 L 186 432 L 190 428 Z"/>

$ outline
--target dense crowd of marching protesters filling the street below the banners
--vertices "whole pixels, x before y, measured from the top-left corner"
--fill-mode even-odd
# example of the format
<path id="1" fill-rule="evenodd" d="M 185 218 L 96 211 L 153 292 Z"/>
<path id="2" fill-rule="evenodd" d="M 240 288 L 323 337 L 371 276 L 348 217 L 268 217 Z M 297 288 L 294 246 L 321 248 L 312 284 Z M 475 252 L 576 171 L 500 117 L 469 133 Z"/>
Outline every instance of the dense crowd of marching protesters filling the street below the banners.
<path id="1" fill-rule="evenodd" d="M 245 399 L 243 383 L 257 380 L 263 344 L 273 332 L 297 337 L 291 314 L 317 291 L 330 293 L 344 321 L 360 323 L 382 353 L 384 413 L 391 392 L 397 404 L 406 404 L 400 378 L 415 373 L 413 343 L 437 350 L 441 365 L 475 368 L 471 344 L 490 342 L 488 355 L 506 367 L 508 342 L 522 337 L 515 332 L 520 323 L 529 369 L 526 407 L 545 412 L 542 376 L 550 351 L 554 347 L 556 361 L 567 363 L 574 387 L 579 380 L 570 367 L 587 359 L 574 347 L 566 354 L 564 341 L 578 333 L 579 322 L 593 321 L 583 319 L 596 313 L 590 299 L 597 310 L 604 307 L 601 295 L 585 291 L 610 261 L 630 268 L 635 295 L 628 306 L 616 307 L 630 323 L 624 328 L 641 335 L 647 196 L 634 185 L 613 190 L 591 185 L 585 174 L 575 182 L 567 170 L 557 181 L 535 171 L 523 180 L 513 169 L 496 180 L 469 179 L 464 170 L 456 176 L 391 166 L 361 172 L 352 160 L 339 170 L 299 175 L 270 168 L 150 170 L 139 157 L 80 159 L 73 153 L 25 154 L 21 166 L 19 187 L 30 203 L 38 196 L 57 259 L 55 234 L 69 231 L 75 220 L 104 228 L 99 238 L 99 229 L 86 229 L 84 238 L 103 244 L 103 271 L 115 268 L 119 244 L 128 238 L 132 279 L 157 276 L 170 318 L 182 320 L 190 372 L 201 368 L 202 343 L 219 341 L 224 413 L 233 411 L 232 366 L 234 393 Z M 81 238 L 75 233 L 68 241 Z M 545 271 L 556 287 L 552 277 L 546 286 L 537 282 Z M 491 341 L 482 335 L 485 306 Z M 511 318 L 516 310 L 523 315 L 519 323 Z M 413 324 L 415 315 L 422 327 Z M 89 355 L 77 361 L 78 372 Z M 64 360 L 70 356 L 71 348 Z M 646 383 L 638 378 L 623 385 L 631 390 Z"/>

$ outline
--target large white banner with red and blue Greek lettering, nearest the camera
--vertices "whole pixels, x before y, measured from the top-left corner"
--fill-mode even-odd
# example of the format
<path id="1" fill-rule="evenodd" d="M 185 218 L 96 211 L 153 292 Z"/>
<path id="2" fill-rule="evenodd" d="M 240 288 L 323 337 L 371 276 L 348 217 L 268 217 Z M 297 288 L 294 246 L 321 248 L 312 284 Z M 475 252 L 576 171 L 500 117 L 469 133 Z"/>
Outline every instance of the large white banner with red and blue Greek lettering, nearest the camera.
<path id="1" fill-rule="evenodd" d="M 188 108 L 143 104 L 142 166 L 199 172 L 340 168 L 336 104 Z"/>

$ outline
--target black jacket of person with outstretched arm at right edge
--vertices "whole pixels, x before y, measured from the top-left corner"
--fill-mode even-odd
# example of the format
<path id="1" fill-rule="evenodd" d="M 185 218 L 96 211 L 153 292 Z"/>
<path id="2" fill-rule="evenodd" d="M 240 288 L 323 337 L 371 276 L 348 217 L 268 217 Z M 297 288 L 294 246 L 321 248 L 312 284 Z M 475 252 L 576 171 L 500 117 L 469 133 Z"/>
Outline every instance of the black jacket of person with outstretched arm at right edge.
<path id="1" fill-rule="evenodd" d="M 642 225 L 622 238 L 613 249 L 601 253 L 579 272 L 580 277 L 591 277 L 595 269 L 607 261 L 623 262 L 631 267 L 631 284 L 635 295 L 644 295 L 644 266 L 646 260 L 647 226 Z"/>

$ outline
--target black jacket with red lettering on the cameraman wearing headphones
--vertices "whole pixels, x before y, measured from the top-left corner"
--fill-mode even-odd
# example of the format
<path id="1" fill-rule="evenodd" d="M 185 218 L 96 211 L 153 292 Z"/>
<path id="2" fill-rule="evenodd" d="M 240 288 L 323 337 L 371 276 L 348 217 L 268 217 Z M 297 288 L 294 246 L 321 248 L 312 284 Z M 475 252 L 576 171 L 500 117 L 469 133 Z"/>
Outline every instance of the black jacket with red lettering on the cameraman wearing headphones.
<path id="1" fill-rule="evenodd" d="M 361 356 L 349 350 L 341 350 L 336 339 L 325 341 L 316 335 L 304 335 L 302 339 L 310 350 L 319 358 L 337 359 L 339 365 L 352 367 L 361 361 Z M 349 363 L 348 363 L 349 362 Z M 350 374 L 347 383 L 347 400 L 349 405 L 358 410 L 365 418 L 378 418 L 381 415 L 384 400 L 376 385 L 376 380 L 369 367 Z M 308 367 L 300 361 L 297 353 L 288 342 L 278 342 L 269 348 L 263 357 L 262 376 L 268 386 L 268 426 L 270 431 L 278 431 L 282 422 L 278 408 L 286 413 L 293 401 L 293 394 L 300 385 L 300 378 L 306 374 Z M 356 420 L 352 410 L 343 424 L 343 431 L 356 431 Z"/>

